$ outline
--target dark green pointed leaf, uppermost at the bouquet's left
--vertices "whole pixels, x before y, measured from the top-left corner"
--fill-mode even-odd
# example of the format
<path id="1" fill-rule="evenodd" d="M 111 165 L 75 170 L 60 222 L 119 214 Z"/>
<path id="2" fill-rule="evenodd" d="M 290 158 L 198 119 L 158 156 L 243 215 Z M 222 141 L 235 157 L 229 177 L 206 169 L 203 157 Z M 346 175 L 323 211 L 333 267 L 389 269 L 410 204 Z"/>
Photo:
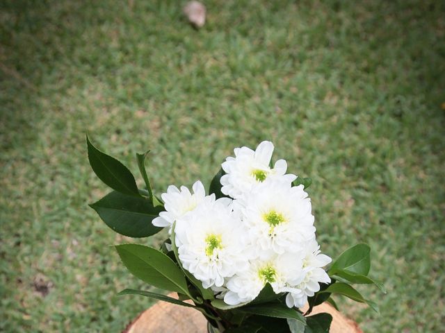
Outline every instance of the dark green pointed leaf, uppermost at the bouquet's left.
<path id="1" fill-rule="evenodd" d="M 93 146 L 88 134 L 86 135 L 86 143 L 88 146 L 88 160 L 97 177 L 116 191 L 131 196 L 139 196 L 136 180 L 134 180 L 129 169 L 114 157 L 102 153 Z"/>

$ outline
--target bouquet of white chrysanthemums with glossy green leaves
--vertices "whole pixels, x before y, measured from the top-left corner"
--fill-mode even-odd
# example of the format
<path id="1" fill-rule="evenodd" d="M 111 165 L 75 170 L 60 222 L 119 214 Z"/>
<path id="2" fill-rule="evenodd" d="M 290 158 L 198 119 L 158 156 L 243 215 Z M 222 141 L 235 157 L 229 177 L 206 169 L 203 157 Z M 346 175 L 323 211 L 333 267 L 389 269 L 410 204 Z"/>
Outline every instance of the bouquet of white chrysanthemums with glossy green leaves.
<path id="1" fill-rule="evenodd" d="M 197 180 L 191 190 L 170 185 L 160 197 L 145 169 L 148 152 L 136 154 L 145 182 L 138 189 L 127 167 L 99 151 L 88 135 L 87 144 L 92 170 L 113 189 L 90 205 L 106 225 L 136 238 L 168 230 L 158 249 L 115 248 L 130 273 L 177 298 L 136 289 L 120 295 L 193 307 L 207 318 L 209 332 L 329 332 L 330 314 L 309 315 L 322 302 L 337 308 L 336 294 L 378 311 L 351 285 L 375 284 L 385 292 L 368 276 L 369 246 L 348 248 L 334 262 L 321 253 L 305 191 L 312 180 L 286 173 L 285 160 L 273 164 L 272 142 L 255 151 L 235 148 L 208 194 Z"/>

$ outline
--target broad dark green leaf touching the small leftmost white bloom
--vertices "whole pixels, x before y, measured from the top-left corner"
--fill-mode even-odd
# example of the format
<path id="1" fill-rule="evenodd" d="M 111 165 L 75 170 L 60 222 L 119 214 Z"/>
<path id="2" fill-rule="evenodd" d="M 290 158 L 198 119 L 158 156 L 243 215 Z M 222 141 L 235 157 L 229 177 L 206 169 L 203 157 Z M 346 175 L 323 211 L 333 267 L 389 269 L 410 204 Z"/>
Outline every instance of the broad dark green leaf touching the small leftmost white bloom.
<path id="1" fill-rule="evenodd" d="M 152 220 L 163 211 L 163 207 L 153 207 L 144 198 L 112 191 L 90 207 L 108 227 L 124 236 L 148 237 L 162 230 L 152 225 Z"/>

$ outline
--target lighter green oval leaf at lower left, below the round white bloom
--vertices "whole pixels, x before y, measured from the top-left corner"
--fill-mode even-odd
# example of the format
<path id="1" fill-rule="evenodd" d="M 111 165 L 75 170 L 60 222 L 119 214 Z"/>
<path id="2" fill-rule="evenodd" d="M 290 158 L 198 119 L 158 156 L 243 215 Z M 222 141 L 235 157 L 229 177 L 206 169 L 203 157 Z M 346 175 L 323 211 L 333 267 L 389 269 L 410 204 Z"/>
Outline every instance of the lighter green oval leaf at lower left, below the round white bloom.
<path id="1" fill-rule="evenodd" d="M 116 250 L 124 265 L 136 278 L 156 288 L 190 296 L 184 273 L 161 251 L 139 244 L 118 245 Z"/>

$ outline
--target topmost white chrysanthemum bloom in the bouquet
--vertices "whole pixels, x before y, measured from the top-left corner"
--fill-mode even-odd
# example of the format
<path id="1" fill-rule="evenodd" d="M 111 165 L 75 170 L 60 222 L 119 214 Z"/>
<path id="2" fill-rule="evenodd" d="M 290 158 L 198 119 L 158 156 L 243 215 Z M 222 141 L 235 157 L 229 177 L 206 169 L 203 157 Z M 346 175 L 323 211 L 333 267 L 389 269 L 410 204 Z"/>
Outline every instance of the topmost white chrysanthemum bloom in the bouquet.
<path id="1" fill-rule="evenodd" d="M 252 186 L 270 178 L 280 178 L 288 182 L 296 180 L 296 176 L 285 174 L 287 164 L 285 160 L 277 160 L 270 169 L 270 159 L 273 153 L 272 142 L 264 141 L 255 151 L 248 147 L 234 149 L 235 157 L 227 157 L 222 167 L 225 175 L 221 177 L 221 191 L 232 198 L 239 198 Z"/>

